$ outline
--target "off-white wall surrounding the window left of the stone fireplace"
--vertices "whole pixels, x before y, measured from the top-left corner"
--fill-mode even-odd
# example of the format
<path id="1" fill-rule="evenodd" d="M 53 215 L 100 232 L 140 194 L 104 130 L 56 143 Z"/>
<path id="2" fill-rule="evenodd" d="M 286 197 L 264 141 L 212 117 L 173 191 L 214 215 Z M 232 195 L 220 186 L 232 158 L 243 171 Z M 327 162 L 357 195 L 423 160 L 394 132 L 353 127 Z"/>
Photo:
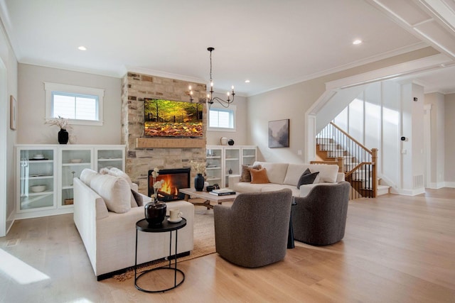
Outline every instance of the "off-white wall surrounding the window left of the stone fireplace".
<path id="1" fill-rule="evenodd" d="M 43 82 L 105 89 L 103 125 L 73 125 L 68 132 L 77 144 L 120 144 L 121 79 L 26 64 L 18 65 L 18 143 L 58 144 L 58 126 L 45 124 Z"/>

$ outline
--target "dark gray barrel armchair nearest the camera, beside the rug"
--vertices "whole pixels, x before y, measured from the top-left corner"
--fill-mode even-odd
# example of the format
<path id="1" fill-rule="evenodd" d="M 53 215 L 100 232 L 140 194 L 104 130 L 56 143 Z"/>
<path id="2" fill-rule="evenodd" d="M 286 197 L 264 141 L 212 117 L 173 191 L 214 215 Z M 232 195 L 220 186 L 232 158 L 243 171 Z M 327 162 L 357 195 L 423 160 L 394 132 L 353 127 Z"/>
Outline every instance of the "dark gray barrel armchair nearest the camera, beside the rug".
<path id="1" fill-rule="evenodd" d="M 216 251 L 247 268 L 283 260 L 287 250 L 292 192 L 239 194 L 231 207 L 215 205 Z"/>

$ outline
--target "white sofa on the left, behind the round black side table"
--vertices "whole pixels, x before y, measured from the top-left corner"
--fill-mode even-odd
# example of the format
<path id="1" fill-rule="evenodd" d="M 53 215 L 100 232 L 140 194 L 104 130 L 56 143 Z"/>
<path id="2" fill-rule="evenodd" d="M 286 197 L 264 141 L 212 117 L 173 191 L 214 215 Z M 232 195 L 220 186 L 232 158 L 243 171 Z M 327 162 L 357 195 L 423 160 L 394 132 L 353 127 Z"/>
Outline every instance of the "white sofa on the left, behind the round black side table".
<path id="1" fill-rule="evenodd" d="M 128 184 L 122 177 L 100 175 L 96 172 L 95 174 L 97 181 L 92 179 L 93 171 L 90 172 L 90 177 L 82 171 L 80 177 L 84 182 L 77 177 L 74 178 L 74 222 L 97 280 L 102 280 L 134 266 L 136 222 L 144 219 L 145 214 L 144 206 L 133 203 L 134 197 L 130 186 L 134 189 L 135 184 Z M 95 186 L 100 194 L 90 185 Z M 134 196 L 142 201 L 139 203 L 141 205 L 150 200 L 149 197 L 137 192 Z M 116 197 L 122 197 L 125 202 L 122 208 L 117 210 L 121 213 L 109 211 L 107 208 L 107 204 L 112 204 L 110 200 Z M 112 205 L 109 207 L 112 208 Z M 169 209 L 180 209 L 187 221 L 186 226 L 178 230 L 177 244 L 177 253 L 187 253 L 193 250 L 194 206 L 188 202 L 176 201 L 167 203 L 167 211 Z M 137 264 L 167 257 L 169 236 L 169 233 L 139 231 Z M 172 241 L 172 254 L 174 251 L 175 245 Z"/>

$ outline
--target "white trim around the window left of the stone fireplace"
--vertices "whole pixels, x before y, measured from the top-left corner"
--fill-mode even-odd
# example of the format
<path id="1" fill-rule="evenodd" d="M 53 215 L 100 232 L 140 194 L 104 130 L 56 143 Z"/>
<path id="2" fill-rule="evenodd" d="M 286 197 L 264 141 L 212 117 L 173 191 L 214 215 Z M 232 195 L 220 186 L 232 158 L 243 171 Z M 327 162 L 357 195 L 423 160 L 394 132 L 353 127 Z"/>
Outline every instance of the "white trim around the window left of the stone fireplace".
<path id="1" fill-rule="evenodd" d="M 58 84 L 51 82 L 44 82 L 45 89 L 45 118 L 52 119 L 52 92 L 68 92 L 70 94 L 88 94 L 98 97 L 98 120 L 81 120 L 69 119 L 70 124 L 73 125 L 91 125 L 102 126 L 103 124 L 103 98 L 105 97 L 104 89 L 97 89 L 93 87 L 79 87 L 76 85 Z"/>

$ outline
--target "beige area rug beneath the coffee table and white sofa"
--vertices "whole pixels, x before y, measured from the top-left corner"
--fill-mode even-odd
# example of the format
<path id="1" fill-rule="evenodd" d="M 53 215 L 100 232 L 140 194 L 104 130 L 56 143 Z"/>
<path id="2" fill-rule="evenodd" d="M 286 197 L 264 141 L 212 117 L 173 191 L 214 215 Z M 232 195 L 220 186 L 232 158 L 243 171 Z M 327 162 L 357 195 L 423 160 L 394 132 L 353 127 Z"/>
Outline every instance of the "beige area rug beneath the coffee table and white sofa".
<path id="1" fill-rule="evenodd" d="M 203 208 L 202 206 L 196 206 L 196 209 L 194 211 L 193 226 L 194 249 L 191 250 L 190 255 L 178 258 L 177 263 L 215 253 L 215 227 L 213 224 L 213 209 L 205 209 L 205 207 Z M 143 272 L 144 270 L 158 268 L 164 265 L 168 265 L 168 260 L 153 261 L 138 266 L 137 272 Z M 118 281 L 129 280 L 132 277 L 134 277 L 134 268 L 129 268 L 126 272 L 113 276 L 113 278 Z"/>

